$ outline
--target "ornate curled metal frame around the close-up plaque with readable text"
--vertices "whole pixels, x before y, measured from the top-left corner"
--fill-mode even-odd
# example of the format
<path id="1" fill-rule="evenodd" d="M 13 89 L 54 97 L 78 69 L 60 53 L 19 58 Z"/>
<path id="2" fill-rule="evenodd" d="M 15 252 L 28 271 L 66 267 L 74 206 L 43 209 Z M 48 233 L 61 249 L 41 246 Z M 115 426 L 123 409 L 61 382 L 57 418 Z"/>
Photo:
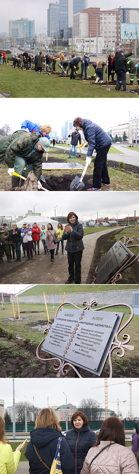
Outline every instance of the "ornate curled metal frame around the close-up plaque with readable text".
<path id="1" fill-rule="evenodd" d="M 131 306 L 129 304 L 121 304 L 121 303 L 117 303 L 117 304 L 110 304 L 110 305 L 107 305 L 107 306 L 102 306 L 101 308 L 92 308 L 92 305 L 94 304 L 94 306 L 98 306 L 98 301 L 95 301 L 94 298 L 91 298 L 90 302 L 89 301 L 83 301 L 82 305 L 85 306 L 84 307 L 84 310 L 93 310 L 93 311 L 100 311 L 100 310 L 105 310 L 106 308 L 113 308 L 113 307 L 116 307 L 116 306 L 125 306 L 126 308 L 129 308 L 131 310 L 131 316 L 130 318 L 126 321 L 125 324 L 123 324 L 122 328 L 118 329 L 118 331 L 114 334 L 114 339 L 113 339 L 113 342 L 111 344 L 111 348 L 109 350 L 109 353 L 108 353 L 108 357 L 109 357 L 109 365 L 110 365 L 110 375 L 109 375 L 109 378 L 112 378 L 112 375 L 113 375 L 113 368 L 112 368 L 112 361 L 111 361 L 111 354 L 112 352 L 114 351 L 114 349 L 116 349 L 116 356 L 118 357 L 123 357 L 124 354 L 125 354 L 125 348 L 132 351 L 134 349 L 134 346 L 130 346 L 128 345 L 129 341 L 130 341 L 130 336 L 129 334 L 126 334 L 124 333 L 123 334 L 123 340 L 119 340 L 118 339 L 118 336 L 119 336 L 119 333 L 121 331 L 123 331 L 124 328 L 126 328 L 126 326 L 130 323 L 131 319 L 133 318 L 133 315 L 134 315 L 134 311 L 133 309 L 131 308 Z M 60 310 L 60 308 L 64 305 L 71 305 L 71 306 L 74 306 L 74 308 L 76 308 L 77 310 L 80 310 L 81 311 L 81 308 L 78 308 L 78 306 L 76 306 L 74 303 L 69 303 L 69 302 L 66 302 L 66 303 L 62 303 L 60 304 L 60 306 L 58 306 L 57 308 L 57 311 L 56 311 L 56 315 L 55 315 L 55 319 L 57 318 L 57 314 L 58 314 L 58 311 Z M 83 311 L 84 311 L 83 310 Z M 124 315 L 124 313 L 123 313 Z M 44 329 L 44 334 L 46 334 L 47 332 L 50 331 L 50 328 L 52 327 L 53 323 L 52 321 L 49 321 L 47 326 L 45 327 Z M 45 361 L 45 362 L 51 362 L 53 361 L 53 369 L 55 372 L 57 372 L 57 378 L 60 377 L 60 374 L 62 375 L 67 375 L 68 374 L 68 369 L 66 368 L 65 369 L 65 366 L 69 365 L 70 367 L 72 367 L 74 369 L 74 372 L 77 374 L 78 377 L 82 378 L 82 376 L 79 374 L 76 366 L 74 366 L 73 364 L 69 363 L 69 362 L 65 362 L 65 360 L 62 360 L 61 358 L 59 357 L 50 357 L 49 359 L 44 359 L 42 357 L 39 356 L 38 352 L 39 352 L 39 348 L 41 347 L 41 344 L 45 341 L 45 338 L 40 342 L 39 346 L 37 347 L 37 351 L 36 351 L 36 356 L 39 360 L 41 361 Z M 121 337 L 122 339 L 122 337 Z M 117 350 L 118 349 L 118 350 Z M 120 351 L 122 351 L 122 353 L 120 354 Z M 104 363 L 103 363 L 103 366 L 102 366 L 102 370 L 106 364 L 106 360 L 107 360 L 107 355 L 106 355 L 106 358 L 104 360 Z M 55 361 L 55 362 L 54 362 Z M 58 362 L 58 364 L 57 364 Z M 89 369 L 85 369 L 85 370 L 88 370 Z M 102 372 L 101 370 L 101 372 Z"/>

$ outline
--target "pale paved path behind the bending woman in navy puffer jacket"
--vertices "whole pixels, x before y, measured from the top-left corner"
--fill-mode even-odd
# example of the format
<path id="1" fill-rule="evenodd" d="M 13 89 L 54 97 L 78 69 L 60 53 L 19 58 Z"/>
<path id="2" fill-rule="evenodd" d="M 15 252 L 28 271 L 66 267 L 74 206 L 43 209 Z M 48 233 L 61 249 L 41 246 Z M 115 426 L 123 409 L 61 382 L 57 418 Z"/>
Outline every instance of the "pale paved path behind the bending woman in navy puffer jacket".
<path id="1" fill-rule="evenodd" d="M 52 146 L 52 148 L 53 148 L 53 145 L 50 145 L 50 146 Z M 139 152 L 138 151 L 129 150 L 128 148 L 124 148 L 123 146 L 115 146 L 115 145 L 113 145 L 113 146 L 117 150 L 121 151 L 122 155 L 119 155 L 116 152 L 115 152 L 115 154 L 114 153 L 108 153 L 108 155 L 107 155 L 108 160 L 113 160 L 113 161 L 117 161 L 117 162 L 123 161 L 124 163 L 127 163 L 127 164 L 134 164 L 135 166 L 139 166 Z M 63 153 L 64 153 L 64 146 L 55 145 L 55 148 L 61 148 L 63 150 Z M 67 148 L 67 149 L 69 149 L 69 148 Z M 81 153 L 82 155 L 86 155 L 87 154 L 87 149 L 85 148 L 85 150 L 79 150 L 77 148 L 77 153 Z M 95 156 L 95 155 L 96 155 L 96 153 L 93 153 L 93 156 Z M 65 157 L 67 157 L 67 155 L 65 155 Z"/>

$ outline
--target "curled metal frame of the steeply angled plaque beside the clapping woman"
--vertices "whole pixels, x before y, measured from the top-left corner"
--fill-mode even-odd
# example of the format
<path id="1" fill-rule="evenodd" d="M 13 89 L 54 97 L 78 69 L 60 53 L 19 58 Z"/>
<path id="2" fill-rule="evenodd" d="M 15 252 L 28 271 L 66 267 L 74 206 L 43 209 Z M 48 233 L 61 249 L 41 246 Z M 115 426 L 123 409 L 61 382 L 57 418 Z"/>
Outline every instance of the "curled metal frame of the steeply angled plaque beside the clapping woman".
<path id="1" fill-rule="evenodd" d="M 135 236 L 133 236 L 135 237 Z M 133 237 L 125 237 L 125 236 L 122 236 L 118 242 L 120 242 L 120 240 L 123 238 L 123 245 L 126 247 L 126 248 L 133 248 L 133 247 L 139 247 L 138 244 L 136 245 L 128 245 L 128 244 L 131 244 L 132 242 L 134 242 L 134 239 Z M 127 241 L 127 242 L 126 242 Z M 138 260 L 139 258 L 139 254 L 136 256 L 136 255 L 133 255 L 131 256 L 130 258 L 128 258 L 128 260 L 126 260 L 124 262 L 124 264 L 121 264 L 121 266 L 119 266 L 119 269 L 108 279 L 108 281 L 106 283 L 103 283 L 103 284 L 112 284 L 112 285 L 115 285 L 117 282 L 119 282 L 120 280 L 122 280 L 123 276 L 121 274 L 121 272 L 123 270 L 125 270 L 126 268 L 128 268 L 131 264 L 133 264 L 134 262 L 136 262 L 136 260 Z M 97 273 L 97 269 L 98 269 L 98 266 L 96 267 L 96 270 L 95 270 L 95 273 Z M 120 271 L 120 273 L 119 273 Z M 112 273 L 111 273 L 112 274 Z M 94 285 L 96 282 L 96 277 L 93 276 L 93 281 L 92 281 L 92 284 Z"/>

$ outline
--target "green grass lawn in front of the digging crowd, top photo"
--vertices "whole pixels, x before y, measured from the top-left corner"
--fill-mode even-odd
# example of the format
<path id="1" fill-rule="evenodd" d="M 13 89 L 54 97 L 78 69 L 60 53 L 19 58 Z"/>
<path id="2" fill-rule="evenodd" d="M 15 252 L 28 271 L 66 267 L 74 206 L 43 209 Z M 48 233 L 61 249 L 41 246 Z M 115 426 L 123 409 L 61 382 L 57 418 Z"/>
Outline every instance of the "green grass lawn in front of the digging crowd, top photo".
<path id="1" fill-rule="evenodd" d="M 60 71 L 56 64 L 56 71 Z M 81 73 L 81 66 L 79 68 Z M 94 68 L 90 66 L 89 75 L 94 74 Z M 116 76 L 115 76 L 116 77 Z M 104 73 L 104 81 L 106 80 L 106 73 Z M 127 85 L 130 79 L 127 79 Z M 62 85 L 61 85 L 62 82 Z M 67 85 L 68 83 L 68 85 Z M 20 68 L 13 68 L 9 64 L 2 66 L 0 69 L 0 91 L 10 93 L 11 97 L 25 98 L 25 97 L 117 97 L 115 88 L 111 86 L 110 91 L 106 91 L 106 87 L 99 87 L 98 85 L 92 85 L 89 82 L 83 81 L 70 81 L 68 78 L 57 77 L 56 75 L 45 75 L 37 76 L 33 71 L 21 70 Z M 123 90 L 119 91 L 118 98 L 131 97 L 138 98 L 138 95 L 129 92 L 125 94 Z"/>

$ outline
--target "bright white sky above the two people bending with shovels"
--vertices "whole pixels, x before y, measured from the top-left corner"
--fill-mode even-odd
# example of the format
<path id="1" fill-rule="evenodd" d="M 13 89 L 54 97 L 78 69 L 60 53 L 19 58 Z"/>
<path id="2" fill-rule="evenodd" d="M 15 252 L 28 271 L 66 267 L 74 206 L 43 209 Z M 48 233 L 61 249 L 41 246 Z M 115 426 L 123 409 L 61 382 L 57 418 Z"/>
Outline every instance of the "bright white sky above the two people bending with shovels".
<path id="1" fill-rule="evenodd" d="M 124 99 L 121 106 L 121 99 L 10 99 L 4 102 L 0 127 L 8 123 L 13 133 L 28 119 L 41 125 L 49 123 L 61 135 L 66 120 L 82 117 L 108 131 L 114 125 L 128 122 L 129 110 L 131 117 L 139 113 L 137 100 Z"/>

